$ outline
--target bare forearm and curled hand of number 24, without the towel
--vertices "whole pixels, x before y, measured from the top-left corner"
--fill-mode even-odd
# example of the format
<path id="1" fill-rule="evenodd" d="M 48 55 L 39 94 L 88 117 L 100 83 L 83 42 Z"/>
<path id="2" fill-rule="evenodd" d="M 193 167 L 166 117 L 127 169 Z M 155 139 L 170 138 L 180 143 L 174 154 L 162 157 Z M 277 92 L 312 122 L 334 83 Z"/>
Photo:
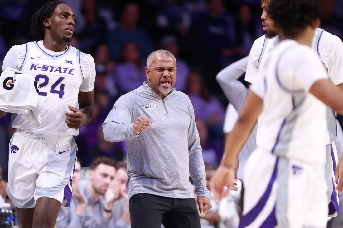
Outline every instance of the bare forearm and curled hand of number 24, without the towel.
<path id="1" fill-rule="evenodd" d="M 69 110 L 66 112 L 66 123 L 69 128 L 80 128 L 91 122 L 94 113 L 94 89 L 90 92 L 79 91 L 79 109 L 68 105 Z"/>

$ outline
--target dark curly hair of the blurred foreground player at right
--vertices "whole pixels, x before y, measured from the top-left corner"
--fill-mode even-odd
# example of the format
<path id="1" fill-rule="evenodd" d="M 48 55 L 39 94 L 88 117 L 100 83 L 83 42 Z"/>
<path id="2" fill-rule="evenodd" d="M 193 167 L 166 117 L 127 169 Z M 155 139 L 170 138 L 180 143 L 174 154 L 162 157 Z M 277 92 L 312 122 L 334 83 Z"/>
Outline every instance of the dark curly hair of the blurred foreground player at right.
<path id="1" fill-rule="evenodd" d="M 272 0 L 267 11 L 283 35 L 293 37 L 320 18 L 322 4 L 322 0 Z"/>

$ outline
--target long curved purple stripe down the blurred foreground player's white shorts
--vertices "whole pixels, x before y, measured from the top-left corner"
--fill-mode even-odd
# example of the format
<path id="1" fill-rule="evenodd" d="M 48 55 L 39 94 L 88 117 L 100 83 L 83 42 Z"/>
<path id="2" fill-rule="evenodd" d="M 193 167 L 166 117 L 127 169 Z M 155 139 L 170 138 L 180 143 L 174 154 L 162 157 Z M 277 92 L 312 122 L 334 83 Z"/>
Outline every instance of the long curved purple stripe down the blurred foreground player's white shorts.
<path id="1" fill-rule="evenodd" d="M 276 179 L 276 171 L 277 171 L 277 164 L 278 164 L 278 162 L 279 162 L 279 157 L 277 156 L 276 157 L 276 161 L 275 161 L 275 166 L 274 166 L 273 174 L 272 174 L 272 177 L 270 178 L 270 181 L 268 183 L 267 189 L 263 193 L 261 199 L 255 205 L 255 207 L 253 207 L 251 209 L 251 211 L 249 211 L 247 214 L 245 214 L 241 218 L 241 220 L 239 222 L 238 228 L 244 228 L 244 227 L 249 226 L 257 218 L 257 216 L 260 214 L 260 212 L 262 211 L 263 207 L 267 203 L 269 195 L 270 195 L 270 193 L 272 191 L 273 183 L 275 182 L 275 179 Z"/>

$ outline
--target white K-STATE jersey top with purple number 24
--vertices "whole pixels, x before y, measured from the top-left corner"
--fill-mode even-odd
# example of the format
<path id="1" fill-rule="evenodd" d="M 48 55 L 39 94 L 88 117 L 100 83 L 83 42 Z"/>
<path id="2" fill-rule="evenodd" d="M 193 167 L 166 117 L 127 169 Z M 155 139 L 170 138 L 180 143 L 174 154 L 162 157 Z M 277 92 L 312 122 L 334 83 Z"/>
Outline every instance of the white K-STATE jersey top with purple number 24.
<path id="1" fill-rule="evenodd" d="M 43 41 L 14 47 L 18 56 L 12 67 L 19 68 L 38 81 L 38 95 L 47 107 L 41 114 L 42 124 L 39 128 L 20 114 L 12 114 L 12 127 L 33 134 L 74 135 L 76 130 L 67 126 L 65 113 L 71 112 L 68 104 L 78 107 L 79 91 L 89 92 L 94 88 L 95 68 L 92 56 L 70 45 L 63 52 L 53 52 L 43 46 Z M 13 57 L 9 56 L 10 58 Z"/>

